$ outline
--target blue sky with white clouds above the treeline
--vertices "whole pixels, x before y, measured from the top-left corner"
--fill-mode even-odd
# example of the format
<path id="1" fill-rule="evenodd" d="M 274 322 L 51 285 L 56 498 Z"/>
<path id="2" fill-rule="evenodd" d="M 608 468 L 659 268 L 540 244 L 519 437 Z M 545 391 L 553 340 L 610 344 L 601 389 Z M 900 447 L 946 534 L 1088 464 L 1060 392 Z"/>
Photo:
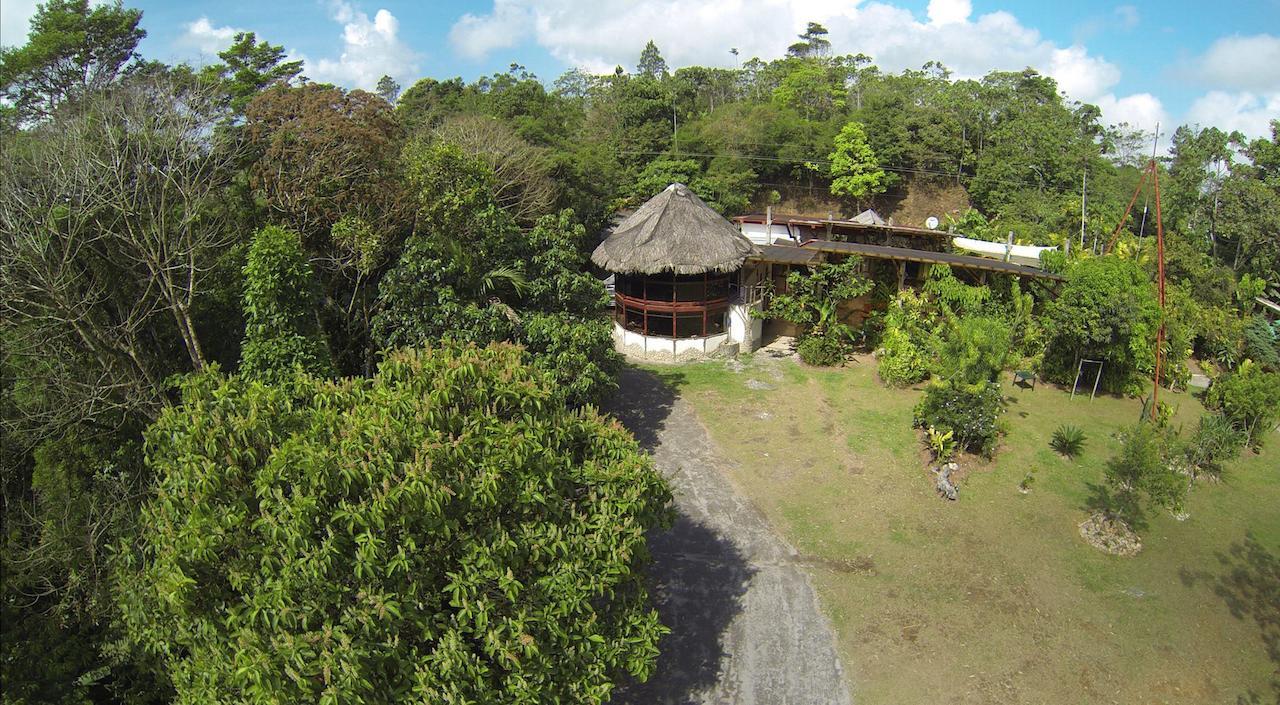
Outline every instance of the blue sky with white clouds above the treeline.
<path id="1" fill-rule="evenodd" d="M 1103 120 L 1169 134 L 1178 124 L 1251 137 L 1280 119 L 1280 0 L 125 0 L 141 52 L 211 63 L 237 31 L 284 45 L 305 74 L 371 88 L 389 74 L 467 81 L 518 63 L 634 68 L 650 38 L 668 65 L 781 56 L 810 20 L 838 54 L 886 70 L 940 60 L 959 78 L 1033 67 Z M 0 0 L 0 45 L 24 41 L 36 0 Z M 737 49 L 735 58 L 730 49 Z"/>

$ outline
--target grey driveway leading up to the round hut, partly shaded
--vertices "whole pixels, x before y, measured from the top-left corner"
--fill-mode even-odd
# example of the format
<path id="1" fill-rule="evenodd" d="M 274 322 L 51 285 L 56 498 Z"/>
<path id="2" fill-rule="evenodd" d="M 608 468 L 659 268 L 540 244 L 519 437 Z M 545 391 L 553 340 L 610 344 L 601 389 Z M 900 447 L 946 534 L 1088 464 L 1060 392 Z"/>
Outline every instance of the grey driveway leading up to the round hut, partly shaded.
<path id="1" fill-rule="evenodd" d="M 797 554 L 739 496 L 694 411 L 654 375 L 622 374 L 612 411 L 671 481 L 676 526 L 650 541 L 672 633 L 628 704 L 852 702 L 835 636 Z"/>

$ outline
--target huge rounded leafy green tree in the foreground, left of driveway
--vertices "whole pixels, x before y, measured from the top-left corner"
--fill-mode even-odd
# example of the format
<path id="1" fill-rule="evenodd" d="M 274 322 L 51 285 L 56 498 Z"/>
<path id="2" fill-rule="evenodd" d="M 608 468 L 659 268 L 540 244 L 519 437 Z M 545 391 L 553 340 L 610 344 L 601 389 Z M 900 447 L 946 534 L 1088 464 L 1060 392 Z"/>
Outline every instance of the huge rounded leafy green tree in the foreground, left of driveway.
<path id="1" fill-rule="evenodd" d="M 124 623 L 175 702 L 591 702 L 654 668 L 666 482 L 522 351 L 372 379 L 216 371 L 146 434 Z"/>

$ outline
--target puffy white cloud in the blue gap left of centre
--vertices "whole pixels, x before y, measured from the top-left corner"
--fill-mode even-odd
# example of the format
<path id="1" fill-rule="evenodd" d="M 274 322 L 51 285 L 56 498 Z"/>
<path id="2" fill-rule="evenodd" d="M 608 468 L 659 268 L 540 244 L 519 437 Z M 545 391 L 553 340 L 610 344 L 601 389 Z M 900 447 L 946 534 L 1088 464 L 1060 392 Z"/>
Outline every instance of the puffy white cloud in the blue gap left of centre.
<path id="1" fill-rule="evenodd" d="M 335 1 L 330 18 L 342 24 L 342 54 L 307 60 L 312 79 L 371 90 L 383 75 L 402 81 L 417 75 L 419 55 L 401 40 L 399 20 L 389 10 L 380 9 L 370 19 L 352 4 Z"/>

